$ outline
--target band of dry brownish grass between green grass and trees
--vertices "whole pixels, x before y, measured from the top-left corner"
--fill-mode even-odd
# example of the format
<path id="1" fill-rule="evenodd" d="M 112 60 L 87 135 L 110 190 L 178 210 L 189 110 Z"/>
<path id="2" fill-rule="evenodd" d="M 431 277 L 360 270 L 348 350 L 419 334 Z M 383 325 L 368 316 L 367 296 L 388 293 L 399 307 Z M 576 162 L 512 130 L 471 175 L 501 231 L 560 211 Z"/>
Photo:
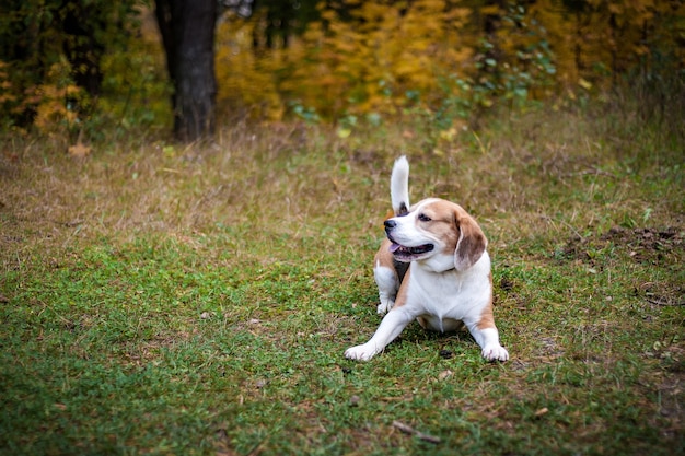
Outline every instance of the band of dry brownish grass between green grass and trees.
<path id="1" fill-rule="evenodd" d="M 639 219 L 646 211 L 666 225 L 682 222 L 682 203 L 646 200 L 628 178 L 639 169 L 625 162 L 650 153 L 636 148 L 662 144 L 625 151 L 623 139 L 584 133 L 592 128 L 587 118 L 555 116 L 512 120 L 507 135 L 464 132 L 456 142 L 432 141 L 411 125 L 348 140 L 303 125 L 237 126 L 211 144 L 103 143 L 83 160 L 63 154 L 58 141 L 13 138 L 1 162 L 2 204 L 11 223 L 43 234 L 32 242 L 47 244 L 204 232 L 217 223 L 298 232 L 312 218 L 360 210 L 357 218 L 375 224 L 387 207 L 390 163 L 406 153 L 414 198 L 458 201 L 485 219 L 491 236 L 509 243 L 606 230 L 624 222 L 623 214 Z M 676 151 L 654 153 L 677 160 Z M 657 180 L 660 173 L 670 171 L 641 174 Z"/>

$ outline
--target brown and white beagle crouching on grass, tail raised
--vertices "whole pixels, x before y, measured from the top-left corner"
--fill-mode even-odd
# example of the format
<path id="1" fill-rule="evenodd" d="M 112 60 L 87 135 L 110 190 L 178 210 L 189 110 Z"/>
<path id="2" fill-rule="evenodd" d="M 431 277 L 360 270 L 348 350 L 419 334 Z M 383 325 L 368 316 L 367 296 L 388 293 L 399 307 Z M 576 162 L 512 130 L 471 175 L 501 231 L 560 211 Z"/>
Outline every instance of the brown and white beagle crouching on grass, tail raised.
<path id="1" fill-rule="evenodd" d="M 395 161 L 391 176 L 394 217 L 374 258 L 373 276 L 385 315 L 373 337 L 347 349 L 350 360 L 381 353 L 414 319 L 427 329 L 466 326 L 488 361 L 507 361 L 492 317 L 492 274 L 487 239 L 458 204 L 428 198 L 409 207 L 409 163 Z"/>

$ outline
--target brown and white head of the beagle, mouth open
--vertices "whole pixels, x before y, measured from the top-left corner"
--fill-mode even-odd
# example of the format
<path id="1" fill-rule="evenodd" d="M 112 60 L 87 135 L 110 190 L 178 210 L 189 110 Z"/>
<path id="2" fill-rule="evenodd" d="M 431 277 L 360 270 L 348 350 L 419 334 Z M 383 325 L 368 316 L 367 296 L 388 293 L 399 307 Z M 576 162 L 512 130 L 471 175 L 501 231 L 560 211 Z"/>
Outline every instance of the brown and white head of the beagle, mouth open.
<path id="1" fill-rule="evenodd" d="M 395 259 L 421 261 L 437 272 L 471 268 L 488 243 L 478 223 L 461 206 L 438 198 L 387 219 L 385 232 Z"/>

